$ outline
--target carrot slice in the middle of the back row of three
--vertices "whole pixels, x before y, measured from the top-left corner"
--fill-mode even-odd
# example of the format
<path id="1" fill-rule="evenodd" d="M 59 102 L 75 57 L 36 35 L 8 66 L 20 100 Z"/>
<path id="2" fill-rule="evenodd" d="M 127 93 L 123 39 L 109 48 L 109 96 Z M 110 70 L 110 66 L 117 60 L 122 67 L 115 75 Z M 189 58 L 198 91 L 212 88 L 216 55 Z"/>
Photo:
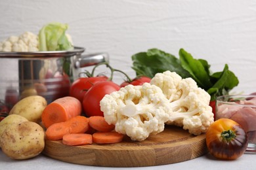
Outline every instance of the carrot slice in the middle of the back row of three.
<path id="1" fill-rule="evenodd" d="M 89 118 L 75 116 L 66 121 L 66 126 L 71 127 L 70 133 L 85 133 L 89 129 Z"/>

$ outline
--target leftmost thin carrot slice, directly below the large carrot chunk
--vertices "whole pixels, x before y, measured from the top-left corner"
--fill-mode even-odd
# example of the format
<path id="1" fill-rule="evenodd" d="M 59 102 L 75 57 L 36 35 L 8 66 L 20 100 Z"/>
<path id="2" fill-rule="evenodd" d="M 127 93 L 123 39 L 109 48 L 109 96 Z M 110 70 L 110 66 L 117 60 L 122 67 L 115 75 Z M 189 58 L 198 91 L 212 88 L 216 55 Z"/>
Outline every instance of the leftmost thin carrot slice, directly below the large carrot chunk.
<path id="1" fill-rule="evenodd" d="M 66 134 L 69 134 L 71 131 L 70 126 L 66 126 L 65 122 L 59 122 L 52 124 L 45 131 L 46 139 L 51 141 L 58 141 Z"/>

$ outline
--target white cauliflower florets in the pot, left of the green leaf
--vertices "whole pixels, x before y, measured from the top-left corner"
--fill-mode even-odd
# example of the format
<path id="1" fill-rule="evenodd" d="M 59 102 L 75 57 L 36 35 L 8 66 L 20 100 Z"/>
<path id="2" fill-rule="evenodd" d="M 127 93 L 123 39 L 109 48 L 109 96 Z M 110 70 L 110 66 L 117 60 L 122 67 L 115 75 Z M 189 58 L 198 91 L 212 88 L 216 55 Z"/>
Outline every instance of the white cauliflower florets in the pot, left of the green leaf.
<path id="1" fill-rule="evenodd" d="M 2 52 L 37 52 L 38 36 L 26 31 L 19 37 L 11 36 L 9 39 L 0 43 Z"/>

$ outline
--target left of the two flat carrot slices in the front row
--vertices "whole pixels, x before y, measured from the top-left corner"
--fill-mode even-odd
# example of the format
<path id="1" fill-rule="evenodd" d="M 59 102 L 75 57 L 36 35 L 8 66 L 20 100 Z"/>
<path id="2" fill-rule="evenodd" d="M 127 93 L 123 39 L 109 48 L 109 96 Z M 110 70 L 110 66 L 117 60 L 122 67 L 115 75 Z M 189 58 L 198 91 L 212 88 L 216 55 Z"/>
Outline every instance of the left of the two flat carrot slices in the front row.
<path id="1" fill-rule="evenodd" d="M 71 133 L 63 136 L 62 143 L 71 146 L 92 144 L 93 137 L 91 134 L 86 133 Z"/>

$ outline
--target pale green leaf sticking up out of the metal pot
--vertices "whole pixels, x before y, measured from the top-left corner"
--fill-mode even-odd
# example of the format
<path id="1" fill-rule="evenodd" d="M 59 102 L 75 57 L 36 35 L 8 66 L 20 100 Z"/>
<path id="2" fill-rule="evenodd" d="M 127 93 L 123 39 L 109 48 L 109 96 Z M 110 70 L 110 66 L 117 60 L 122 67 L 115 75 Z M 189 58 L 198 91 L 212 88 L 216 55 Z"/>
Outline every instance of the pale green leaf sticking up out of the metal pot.
<path id="1" fill-rule="evenodd" d="M 39 51 L 72 50 L 74 47 L 66 36 L 68 24 L 53 22 L 39 31 Z"/>

